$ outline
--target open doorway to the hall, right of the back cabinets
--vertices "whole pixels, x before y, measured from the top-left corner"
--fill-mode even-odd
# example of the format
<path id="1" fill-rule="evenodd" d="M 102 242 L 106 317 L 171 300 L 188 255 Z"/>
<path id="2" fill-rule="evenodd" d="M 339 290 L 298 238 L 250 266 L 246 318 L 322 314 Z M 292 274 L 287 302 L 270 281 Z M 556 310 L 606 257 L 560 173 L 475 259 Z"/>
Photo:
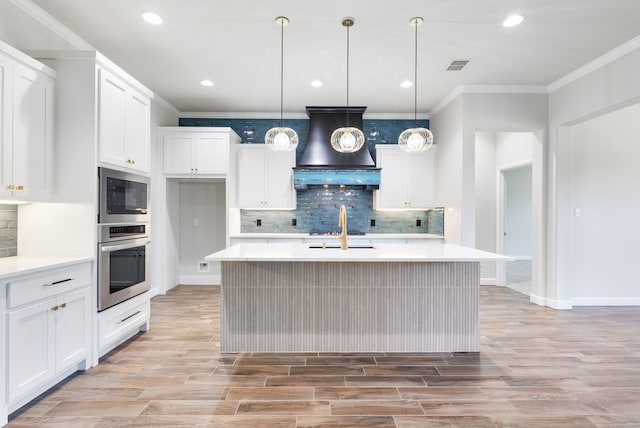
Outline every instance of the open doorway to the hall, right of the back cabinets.
<path id="1" fill-rule="evenodd" d="M 541 132 L 477 131 L 475 136 L 475 246 L 516 259 L 509 263 L 482 263 L 481 284 L 521 284 L 526 286 L 522 291 L 531 295 L 535 265 L 533 212 L 535 207 L 539 209 L 534 195 L 542 187 L 536 186 L 535 178 L 541 180 L 541 174 L 536 174 L 536 168 L 540 168 L 536 162 L 541 159 Z M 508 200 L 507 190 L 513 191 Z M 509 232 L 510 229 L 513 230 Z M 523 235 L 528 239 L 523 240 Z"/>

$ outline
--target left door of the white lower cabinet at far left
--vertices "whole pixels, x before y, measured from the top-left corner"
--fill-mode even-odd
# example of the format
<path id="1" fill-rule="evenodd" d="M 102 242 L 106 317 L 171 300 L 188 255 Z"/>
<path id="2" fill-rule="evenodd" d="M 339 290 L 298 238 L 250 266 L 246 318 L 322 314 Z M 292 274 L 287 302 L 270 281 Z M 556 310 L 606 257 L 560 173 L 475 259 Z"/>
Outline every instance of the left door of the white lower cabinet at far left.
<path id="1" fill-rule="evenodd" d="M 53 377 L 55 299 L 26 306 L 8 314 L 9 401 Z"/>

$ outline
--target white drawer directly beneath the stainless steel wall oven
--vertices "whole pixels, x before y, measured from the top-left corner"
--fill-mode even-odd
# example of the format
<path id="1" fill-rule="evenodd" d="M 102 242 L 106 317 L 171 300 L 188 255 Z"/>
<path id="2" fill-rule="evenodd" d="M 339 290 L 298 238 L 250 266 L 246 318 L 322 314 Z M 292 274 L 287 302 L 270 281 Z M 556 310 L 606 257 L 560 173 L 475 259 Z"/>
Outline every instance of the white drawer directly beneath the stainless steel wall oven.
<path id="1" fill-rule="evenodd" d="M 148 293 L 120 303 L 98 315 L 98 348 L 117 342 L 149 319 Z"/>

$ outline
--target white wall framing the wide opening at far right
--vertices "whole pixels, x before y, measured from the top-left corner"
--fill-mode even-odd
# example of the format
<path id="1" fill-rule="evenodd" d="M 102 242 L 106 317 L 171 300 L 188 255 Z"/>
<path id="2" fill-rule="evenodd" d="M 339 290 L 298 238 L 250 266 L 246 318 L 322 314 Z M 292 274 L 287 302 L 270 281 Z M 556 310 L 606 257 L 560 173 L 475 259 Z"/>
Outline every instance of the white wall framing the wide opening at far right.
<path id="1" fill-rule="evenodd" d="M 549 258 L 546 300 L 540 303 L 552 307 L 570 308 L 574 293 L 579 289 L 579 284 L 573 277 L 575 261 L 572 236 L 571 126 L 640 102 L 640 39 L 630 41 L 624 48 L 628 51 L 626 54 L 616 56 L 595 71 L 555 89 L 549 96 L 549 225 L 546 251 Z M 618 49 L 618 53 L 620 51 Z M 622 127 L 630 125 L 627 122 Z M 604 145 L 609 143 L 608 138 L 601 141 Z M 620 209 L 624 210 L 625 206 Z M 614 248 L 623 243 L 624 239 L 626 236 L 616 237 Z M 599 266 L 603 272 L 607 270 L 606 266 Z M 627 278 L 624 290 L 619 290 L 619 293 L 635 296 L 637 285 L 633 282 L 634 279 Z"/>

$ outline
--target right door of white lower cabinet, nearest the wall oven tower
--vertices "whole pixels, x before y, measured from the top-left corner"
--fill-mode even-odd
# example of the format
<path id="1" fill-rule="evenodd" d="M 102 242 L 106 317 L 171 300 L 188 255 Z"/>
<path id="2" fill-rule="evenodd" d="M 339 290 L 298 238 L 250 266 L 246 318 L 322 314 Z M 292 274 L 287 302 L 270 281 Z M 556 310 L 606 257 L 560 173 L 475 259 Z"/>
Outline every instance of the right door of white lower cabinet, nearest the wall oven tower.
<path id="1" fill-rule="evenodd" d="M 56 370 L 64 370 L 87 356 L 87 305 L 89 289 L 58 299 L 56 311 Z"/>

